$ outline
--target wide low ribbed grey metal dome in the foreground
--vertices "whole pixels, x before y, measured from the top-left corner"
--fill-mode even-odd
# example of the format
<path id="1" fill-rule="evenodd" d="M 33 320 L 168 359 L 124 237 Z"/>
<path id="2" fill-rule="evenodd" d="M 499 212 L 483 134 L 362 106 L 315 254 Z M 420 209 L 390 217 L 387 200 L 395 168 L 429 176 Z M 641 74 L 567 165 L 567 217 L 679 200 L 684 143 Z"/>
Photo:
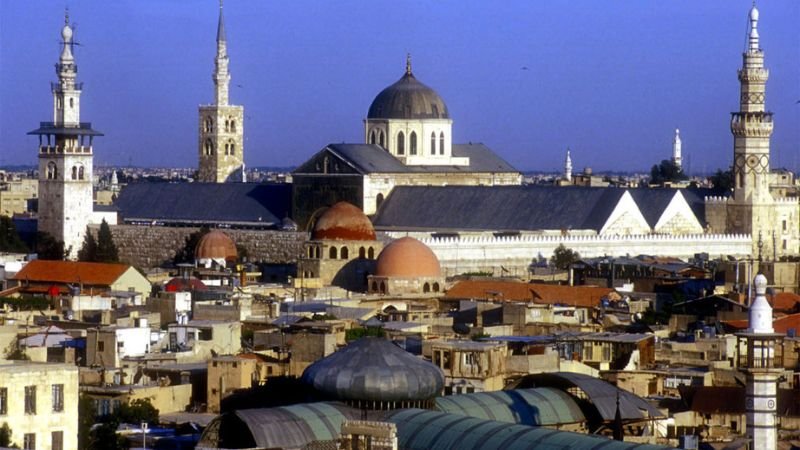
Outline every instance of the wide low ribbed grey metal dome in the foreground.
<path id="1" fill-rule="evenodd" d="M 304 383 L 338 400 L 426 400 L 444 387 L 442 371 L 396 344 L 366 337 L 315 362 Z"/>

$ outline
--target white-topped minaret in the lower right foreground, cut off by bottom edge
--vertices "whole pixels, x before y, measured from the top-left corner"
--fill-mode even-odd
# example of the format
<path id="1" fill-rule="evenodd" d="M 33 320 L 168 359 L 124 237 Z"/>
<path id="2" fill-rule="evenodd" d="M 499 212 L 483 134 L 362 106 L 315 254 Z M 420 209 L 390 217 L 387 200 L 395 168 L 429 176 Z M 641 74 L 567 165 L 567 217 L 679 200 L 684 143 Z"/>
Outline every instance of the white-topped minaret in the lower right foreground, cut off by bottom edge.
<path id="1" fill-rule="evenodd" d="M 747 331 L 737 334 L 739 368 L 747 376 L 745 418 L 750 448 L 776 450 L 778 377 L 783 373 L 783 335 L 772 327 L 767 278 L 756 275 L 756 298 L 750 304 Z"/>

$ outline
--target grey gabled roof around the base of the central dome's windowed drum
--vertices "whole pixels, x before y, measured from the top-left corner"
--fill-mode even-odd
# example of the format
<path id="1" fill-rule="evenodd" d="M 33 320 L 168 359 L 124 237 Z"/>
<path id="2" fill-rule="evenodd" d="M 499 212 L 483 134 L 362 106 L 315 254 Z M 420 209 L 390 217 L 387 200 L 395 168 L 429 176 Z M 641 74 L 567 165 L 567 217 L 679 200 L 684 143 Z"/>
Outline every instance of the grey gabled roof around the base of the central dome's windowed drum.
<path id="1" fill-rule="evenodd" d="M 371 173 L 439 173 L 439 172 L 517 172 L 517 170 L 483 144 L 454 144 L 453 156 L 468 157 L 467 166 L 407 166 L 383 147 L 373 144 L 330 144 L 321 152 L 330 152 L 363 175 Z M 317 153 L 317 155 L 319 154 Z M 315 159 L 316 155 L 310 159 Z M 314 173 L 303 164 L 294 173 Z"/>

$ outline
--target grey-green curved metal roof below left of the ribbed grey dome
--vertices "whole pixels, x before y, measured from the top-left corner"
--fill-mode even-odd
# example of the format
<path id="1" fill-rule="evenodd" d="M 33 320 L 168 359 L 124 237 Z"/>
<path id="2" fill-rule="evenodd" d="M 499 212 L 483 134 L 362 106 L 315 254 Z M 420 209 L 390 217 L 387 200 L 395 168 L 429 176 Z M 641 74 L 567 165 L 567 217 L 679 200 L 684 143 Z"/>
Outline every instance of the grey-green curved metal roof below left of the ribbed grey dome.
<path id="1" fill-rule="evenodd" d="M 314 441 L 337 439 L 342 423 L 358 419 L 356 409 L 334 403 L 307 403 L 235 412 L 260 448 L 301 448 Z"/>

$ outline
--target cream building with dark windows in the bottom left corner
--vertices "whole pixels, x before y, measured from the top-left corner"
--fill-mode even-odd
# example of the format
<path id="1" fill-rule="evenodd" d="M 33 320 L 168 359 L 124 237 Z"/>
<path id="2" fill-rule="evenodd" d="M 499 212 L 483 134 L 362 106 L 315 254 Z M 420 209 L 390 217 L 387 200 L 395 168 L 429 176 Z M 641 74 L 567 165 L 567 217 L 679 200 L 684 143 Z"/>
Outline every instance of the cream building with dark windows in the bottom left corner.
<path id="1" fill-rule="evenodd" d="M 0 360 L 0 425 L 19 448 L 78 448 L 78 368 Z"/>

